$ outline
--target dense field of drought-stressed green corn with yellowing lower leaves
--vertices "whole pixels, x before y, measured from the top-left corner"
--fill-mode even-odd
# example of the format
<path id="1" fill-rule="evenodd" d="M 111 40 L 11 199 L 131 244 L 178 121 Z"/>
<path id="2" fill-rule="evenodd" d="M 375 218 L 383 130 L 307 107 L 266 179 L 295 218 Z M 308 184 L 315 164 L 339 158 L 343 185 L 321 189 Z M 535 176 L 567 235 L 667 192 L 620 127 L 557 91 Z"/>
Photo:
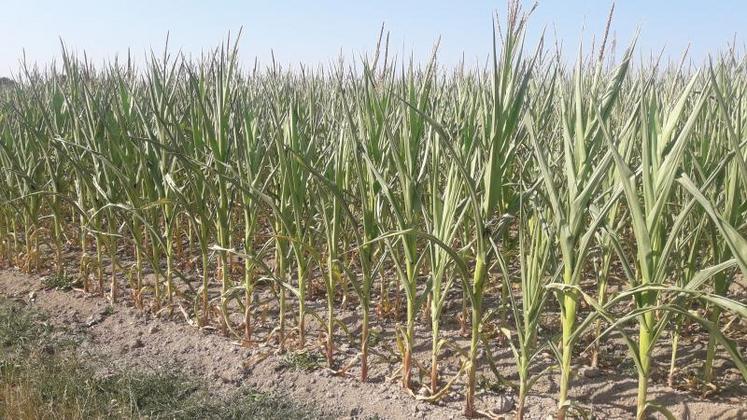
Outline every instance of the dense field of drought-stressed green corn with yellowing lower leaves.
<path id="1" fill-rule="evenodd" d="M 319 348 L 364 382 L 371 328 L 391 320 L 402 387 L 431 402 L 459 387 L 470 417 L 480 352 L 498 348 L 517 418 L 540 374 L 557 377 L 557 417 L 575 415 L 574 366 L 606 343 L 634 362 L 637 418 L 671 415 L 648 387 L 656 370 L 678 380 L 685 328 L 708 337 L 704 383 L 717 357 L 747 380 L 732 287 L 747 58 L 639 59 L 605 35 L 566 64 L 526 45 L 528 17 L 496 18 L 482 68 L 445 69 L 437 49 L 414 64 L 386 35 L 355 63 L 295 71 L 243 68 L 235 39 L 142 66 L 64 46 L 56 65 L 22 64 L 0 87 L 0 266 L 247 346 Z M 454 376 L 444 328 L 467 338 Z M 543 352 L 556 362 L 540 373 Z"/>

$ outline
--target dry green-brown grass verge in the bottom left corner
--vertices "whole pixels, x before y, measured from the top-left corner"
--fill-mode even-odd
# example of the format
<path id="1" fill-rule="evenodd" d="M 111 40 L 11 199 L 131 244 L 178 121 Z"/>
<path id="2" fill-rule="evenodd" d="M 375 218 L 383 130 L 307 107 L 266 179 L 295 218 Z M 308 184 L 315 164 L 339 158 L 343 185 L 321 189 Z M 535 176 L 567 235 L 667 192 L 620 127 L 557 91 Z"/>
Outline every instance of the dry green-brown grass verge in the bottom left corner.
<path id="1" fill-rule="evenodd" d="M 312 419 L 319 413 L 254 390 L 227 397 L 177 369 L 102 376 L 54 340 L 38 313 L 0 300 L 0 418 Z M 70 344 L 72 343 L 72 344 Z"/>

